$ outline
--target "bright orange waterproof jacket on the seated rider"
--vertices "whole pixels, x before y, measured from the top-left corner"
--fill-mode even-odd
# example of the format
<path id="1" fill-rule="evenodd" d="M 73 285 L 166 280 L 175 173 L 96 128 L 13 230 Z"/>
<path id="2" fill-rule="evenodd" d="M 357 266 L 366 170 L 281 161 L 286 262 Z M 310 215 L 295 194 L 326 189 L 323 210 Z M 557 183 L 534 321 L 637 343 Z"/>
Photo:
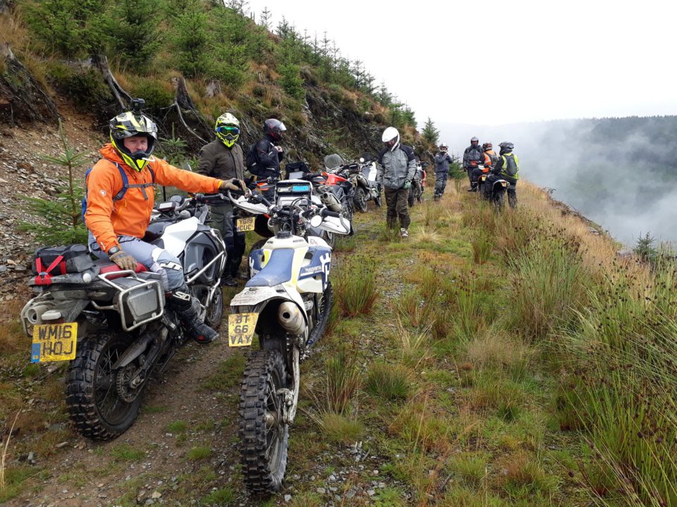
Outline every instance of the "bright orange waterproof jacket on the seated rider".
<path id="1" fill-rule="evenodd" d="M 120 246 L 118 236 L 143 237 L 150 223 L 155 194 L 153 187 L 128 188 L 122 199 L 114 201 L 113 197 L 123 187 L 122 176 L 115 163 L 123 168 L 130 185 L 151 183 L 152 175 L 146 168 L 137 173 L 126 165 L 112 144 L 106 144 L 99 153 L 102 159 L 94 164 L 85 182 L 85 225 L 101 249 L 107 252 L 112 246 Z M 216 178 L 175 168 L 160 158 L 155 158 L 148 165 L 155 173 L 157 184 L 177 187 L 186 192 L 211 194 L 219 191 L 221 180 Z"/>

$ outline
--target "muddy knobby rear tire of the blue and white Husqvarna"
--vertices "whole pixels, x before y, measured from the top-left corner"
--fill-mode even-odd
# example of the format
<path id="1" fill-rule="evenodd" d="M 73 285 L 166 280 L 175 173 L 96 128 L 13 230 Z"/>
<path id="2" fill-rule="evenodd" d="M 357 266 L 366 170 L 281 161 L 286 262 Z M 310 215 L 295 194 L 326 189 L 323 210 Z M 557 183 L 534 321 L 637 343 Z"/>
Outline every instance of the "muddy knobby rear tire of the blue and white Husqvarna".
<path id="1" fill-rule="evenodd" d="M 282 420 L 287 387 L 286 366 L 280 351 L 256 351 L 245 368 L 240 387 L 240 458 L 247 489 L 255 496 L 279 492 L 284 483 L 289 425 Z"/>

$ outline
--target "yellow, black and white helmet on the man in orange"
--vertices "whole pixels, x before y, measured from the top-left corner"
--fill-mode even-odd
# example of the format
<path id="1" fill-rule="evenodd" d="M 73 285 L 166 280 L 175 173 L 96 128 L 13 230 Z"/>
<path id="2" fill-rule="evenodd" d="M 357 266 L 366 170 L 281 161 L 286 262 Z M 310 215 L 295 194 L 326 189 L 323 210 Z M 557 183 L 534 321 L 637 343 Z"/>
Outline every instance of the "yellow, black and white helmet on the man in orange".
<path id="1" fill-rule="evenodd" d="M 157 140 L 157 125 L 143 115 L 138 108 L 138 104 L 133 104 L 133 111 L 127 111 L 111 118 L 111 143 L 118 151 L 123 161 L 139 172 L 145 168 L 148 158 L 155 149 Z M 148 148 L 145 151 L 134 151 L 133 153 L 126 149 L 124 139 L 136 135 L 145 135 L 148 139 Z"/>

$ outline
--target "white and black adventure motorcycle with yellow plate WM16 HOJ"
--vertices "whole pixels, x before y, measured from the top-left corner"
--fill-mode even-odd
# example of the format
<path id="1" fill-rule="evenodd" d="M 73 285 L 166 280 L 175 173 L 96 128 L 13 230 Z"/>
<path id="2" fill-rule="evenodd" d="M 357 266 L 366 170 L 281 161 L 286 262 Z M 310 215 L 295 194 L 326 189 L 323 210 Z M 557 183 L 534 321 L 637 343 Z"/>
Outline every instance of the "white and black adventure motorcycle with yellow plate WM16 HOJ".
<path id="1" fill-rule="evenodd" d="M 205 221 L 209 205 L 224 199 L 174 196 L 157 206 L 144 237 L 180 259 L 193 305 L 213 328 L 224 313 L 226 247 Z M 66 405 L 75 427 L 96 440 L 118 437 L 136 420 L 151 374 L 186 341 L 178 316 L 165 306 L 161 274 L 141 264 L 134 273 L 92 261 L 79 244 L 39 249 L 34 273 L 30 285 L 38 295 L 21 311 L 32 335 L 31 361 L 71 361 Z"/>

